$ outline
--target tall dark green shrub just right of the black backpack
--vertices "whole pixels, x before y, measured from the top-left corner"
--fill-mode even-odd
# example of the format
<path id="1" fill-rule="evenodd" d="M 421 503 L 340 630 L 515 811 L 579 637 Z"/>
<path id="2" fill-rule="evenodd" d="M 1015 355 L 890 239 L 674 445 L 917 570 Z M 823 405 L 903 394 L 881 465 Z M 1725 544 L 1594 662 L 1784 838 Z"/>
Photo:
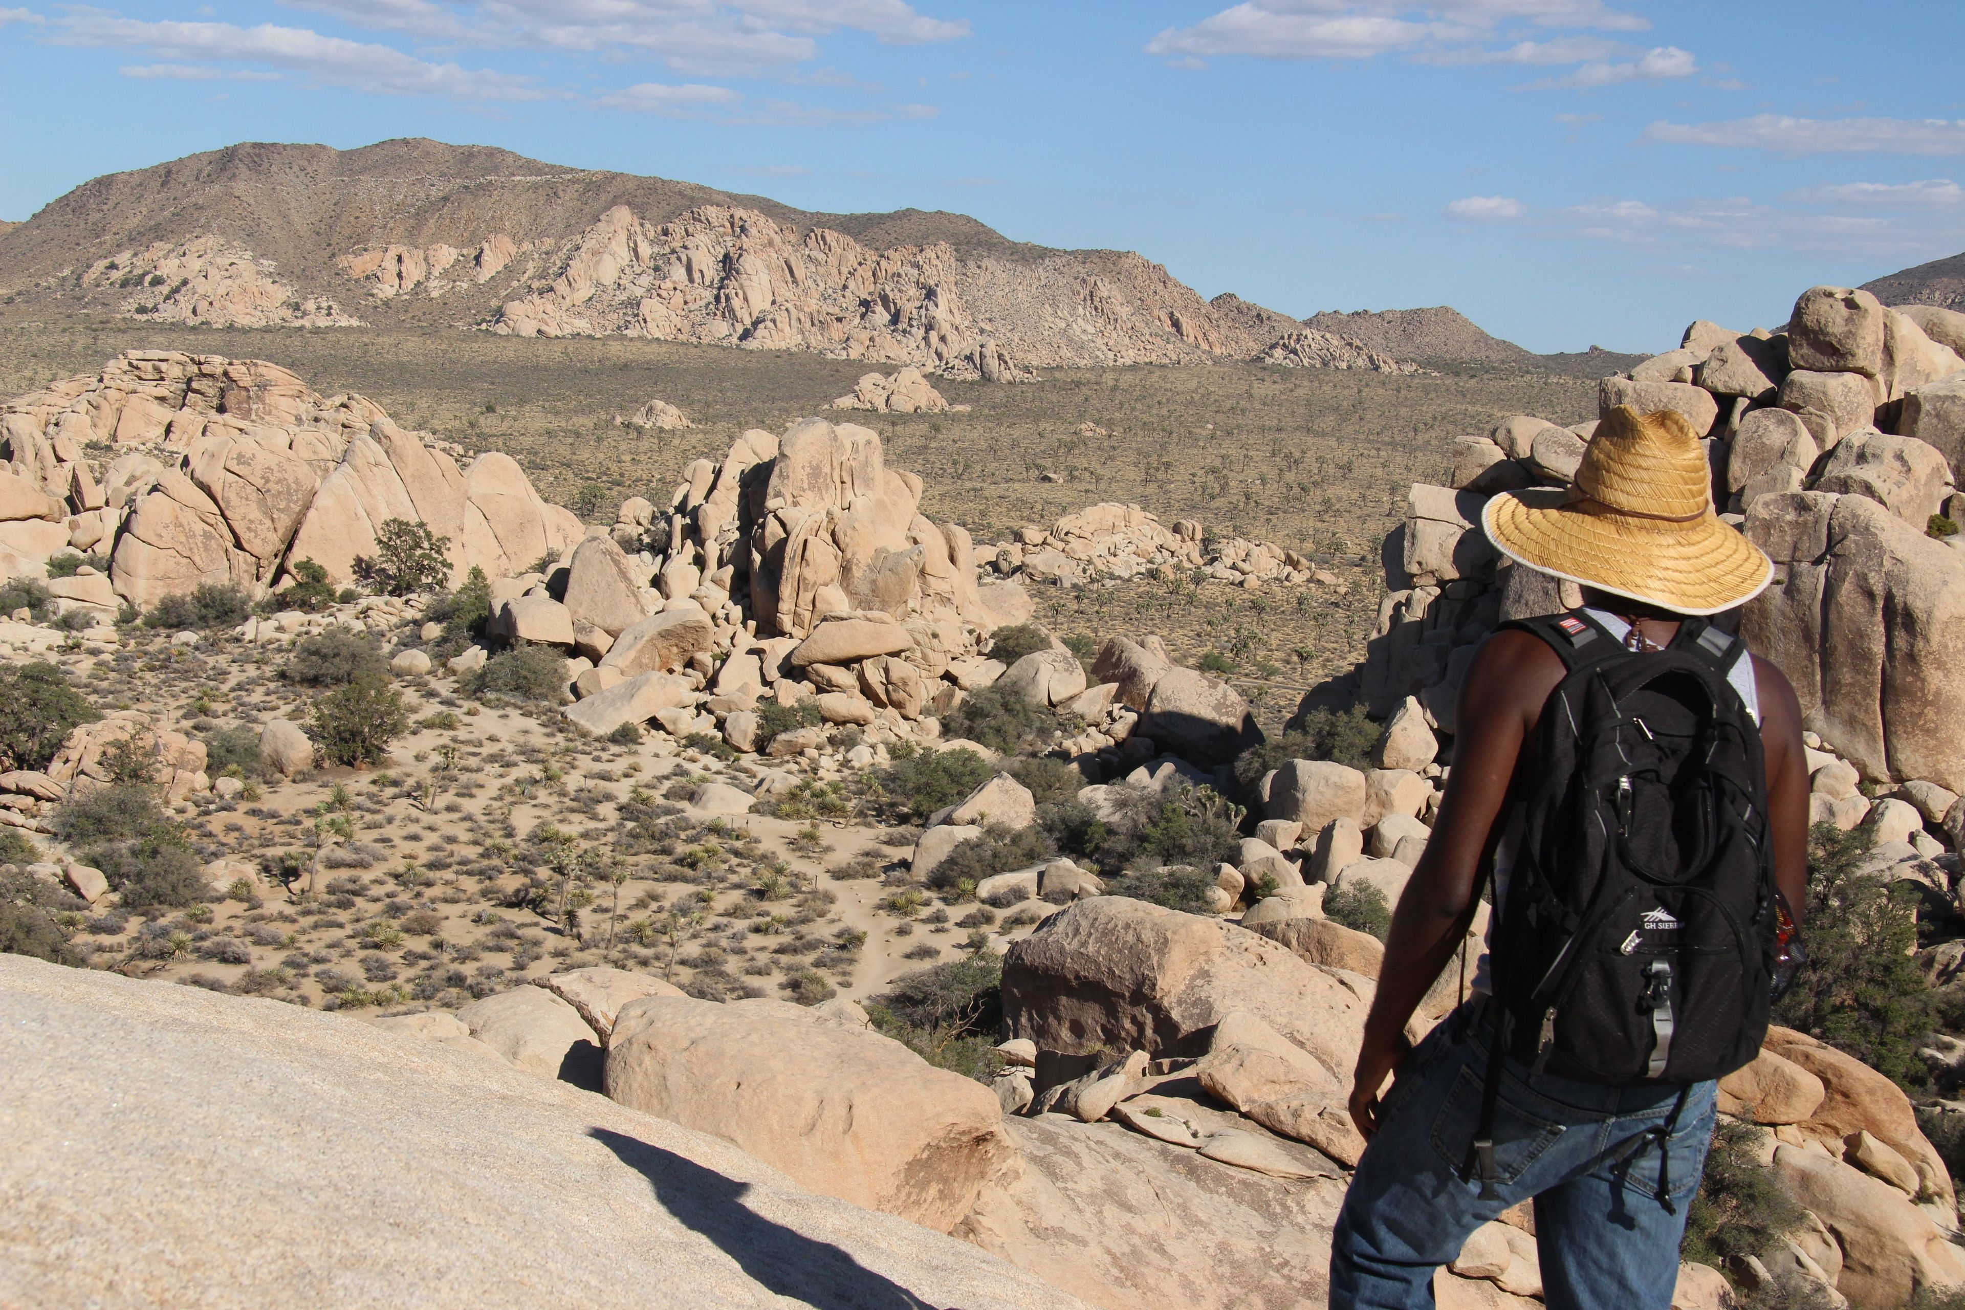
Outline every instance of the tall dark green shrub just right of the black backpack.
<path id="1" fill-rule="evenodd" d="M 1932 996 L 1918 970 L 1914 905 L 1863 874 L 1865 841 L 1818 823 L 1808 835 L 1808 964 L 1774 1004 L 1774 1021 L 1857 1057 L 1906 1088 L 1930 1080 L 1918 1045 Z"/>

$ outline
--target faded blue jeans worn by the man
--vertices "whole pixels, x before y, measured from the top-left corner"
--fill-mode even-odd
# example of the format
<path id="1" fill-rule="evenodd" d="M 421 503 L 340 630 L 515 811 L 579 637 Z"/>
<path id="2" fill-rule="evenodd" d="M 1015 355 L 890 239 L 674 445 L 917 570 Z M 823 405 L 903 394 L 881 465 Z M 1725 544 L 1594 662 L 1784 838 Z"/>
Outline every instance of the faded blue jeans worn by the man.
<path id="1" fill-rule="evenodd" d="M 1535 1231 L 1548 1310 L 1668 1310 L 1678 1239 L 1712 1145 L 1715 1084 L 1692 1086 L 1660 1151 L 1678 1088 L 1603 1086 L 1541 1074 L 1507 1061 L 1495 1110 L 1499 1200 L 1462 1182 L 1480 1121 L 1493 1027 L 1468 1002 L 1407 1059 L 1358 1161 L 1330 1235 L 1330 1310 L 1425 1310 L 1432 1271 L 1460 1255 L 1468 1233 L 1535 1198 Z M 1670 1210 L 1656 1198 L 1660 1169 Z"/>

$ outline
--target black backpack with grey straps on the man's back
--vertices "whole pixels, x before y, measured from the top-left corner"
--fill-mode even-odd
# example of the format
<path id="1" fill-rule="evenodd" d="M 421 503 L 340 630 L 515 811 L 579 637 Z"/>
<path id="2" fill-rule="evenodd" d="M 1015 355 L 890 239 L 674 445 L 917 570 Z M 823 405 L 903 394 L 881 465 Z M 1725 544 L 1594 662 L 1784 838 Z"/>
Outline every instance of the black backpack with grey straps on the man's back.
<path id="1" fill-rule="evenodd" d="M 1582 1082 L 1690 1084 L 1767 1035 L 1780 951 L 1761 731 L 1727 682 L 1739 638 L 1686 619 L 1631 652 L 1584 611 L 1501 625 L 1568 670 L 1535 731 L 1535 780 L 1489 978 L 1497 1041 L 1466 1173 L 1493 1182 L 1501 1057 Z M 1666 1180 L 1660 1178 L 1658 1200 Z"/>

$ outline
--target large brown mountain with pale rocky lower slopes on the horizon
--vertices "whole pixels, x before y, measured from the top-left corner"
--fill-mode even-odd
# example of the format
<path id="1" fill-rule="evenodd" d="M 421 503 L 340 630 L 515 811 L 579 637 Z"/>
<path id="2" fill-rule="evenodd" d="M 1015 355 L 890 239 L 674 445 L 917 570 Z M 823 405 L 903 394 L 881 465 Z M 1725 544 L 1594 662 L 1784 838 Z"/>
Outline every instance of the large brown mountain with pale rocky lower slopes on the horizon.
<path id="1" fill-rule="evenodd" d="M 244 143 L 86 183 L 0 234 L 6 291 L 214 326 L 485 326 L 914 363 L 955 375 L 1254 355 L 1140 255 L 961 214 L 808 214 L 509 151 Z"/>

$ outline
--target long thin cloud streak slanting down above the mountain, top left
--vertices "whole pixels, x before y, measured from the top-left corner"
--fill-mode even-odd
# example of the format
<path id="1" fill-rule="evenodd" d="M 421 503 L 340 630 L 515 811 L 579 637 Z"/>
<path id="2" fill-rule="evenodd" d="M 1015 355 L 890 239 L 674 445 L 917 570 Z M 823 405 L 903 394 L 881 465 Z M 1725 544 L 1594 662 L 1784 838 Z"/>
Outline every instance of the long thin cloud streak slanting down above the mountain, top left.
<path id="1" fill-rule="evenodd" d="M 301 73 L 322 86 L 346 86 L 389 96 L 452 100 L 542 100 L 531 77 L 426 63 L 387 45 L 346 41 L 307 27 L 240 27 L 236 24 L 140 22 L 104 14 L 63 20 L 51 41 L 94 49 L 143 49 L 159 59 L 200 63 L 226 59 Z"/>

